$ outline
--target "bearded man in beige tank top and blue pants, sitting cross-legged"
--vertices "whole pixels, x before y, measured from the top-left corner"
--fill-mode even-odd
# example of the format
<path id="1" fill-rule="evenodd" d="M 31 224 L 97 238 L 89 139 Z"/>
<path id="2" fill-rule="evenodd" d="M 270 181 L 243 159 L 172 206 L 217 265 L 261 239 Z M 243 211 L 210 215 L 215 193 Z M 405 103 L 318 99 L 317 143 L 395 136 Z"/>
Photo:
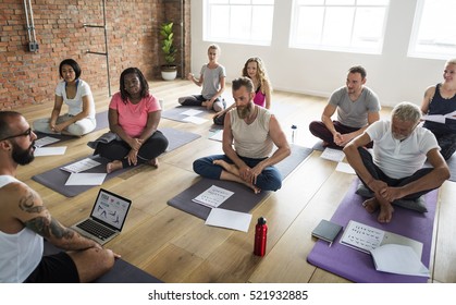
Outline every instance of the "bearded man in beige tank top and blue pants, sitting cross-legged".
<path id="1" fill-rule="evenodd" d="M 234 80 L 232 90 L 236 108 L 224 120 L 225 155 L 197 159 L 194 170 L 206 178 L 243 183 L 255 193 L 278 191 L 282 176 L 273 166 L 291 154 L 285 134 L 268 109 L 254 103 L 250 78 Z M 278 149 L 271 155 L 274 145 Z"/>

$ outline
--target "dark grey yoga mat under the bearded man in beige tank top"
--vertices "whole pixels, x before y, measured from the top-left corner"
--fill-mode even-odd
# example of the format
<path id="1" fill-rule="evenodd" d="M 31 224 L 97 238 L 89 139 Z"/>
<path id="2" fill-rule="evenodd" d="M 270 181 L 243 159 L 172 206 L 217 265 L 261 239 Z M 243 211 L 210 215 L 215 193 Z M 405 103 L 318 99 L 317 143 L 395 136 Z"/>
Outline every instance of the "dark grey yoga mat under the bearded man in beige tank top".
<path id="1" fill-rule="evenodd" d="M 283 179 L 285 179 L 311 152 L 312 150 L 310 148 L 292 145 L 292 155 L 288 156 L 288 158 L 282 160 L 282 162 L 279 162 L 275 167 L 282 173 Z M 221 204 L 219 208 L 239 212 L 249 212 L 255 206 L 258 205 L 258 203 L 260 203 L 270 194 L 270 192 L 264 191 L 260 194 L 255 194 L 254 191 L 249 187 L 236 182 L 201 178 L 197 183 L 187 190 L 184 190 L 174 198 L 168 200 L 168 205 L 206 220 L 211 209 L 209 207 L 194 203 L 192 199 L 212 185 L 217 185 L 219 187 L 234 192 L 234 194 L 227 198 L 226 202 Z"/>

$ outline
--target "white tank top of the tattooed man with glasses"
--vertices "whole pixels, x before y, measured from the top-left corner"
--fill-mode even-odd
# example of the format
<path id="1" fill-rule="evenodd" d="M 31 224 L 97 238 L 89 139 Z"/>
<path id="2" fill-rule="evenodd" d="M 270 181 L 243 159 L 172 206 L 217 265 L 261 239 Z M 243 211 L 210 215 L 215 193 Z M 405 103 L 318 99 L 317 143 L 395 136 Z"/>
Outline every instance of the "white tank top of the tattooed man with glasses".
<path id="1" fill-rule="evenodd" d="M 20 181 L 0 175 L 0 188 L 12 182 Z M 15 234 L 0 231 L 0 283 L 22 283 L 41 260 L 42 236 L 27 228 Z"/>

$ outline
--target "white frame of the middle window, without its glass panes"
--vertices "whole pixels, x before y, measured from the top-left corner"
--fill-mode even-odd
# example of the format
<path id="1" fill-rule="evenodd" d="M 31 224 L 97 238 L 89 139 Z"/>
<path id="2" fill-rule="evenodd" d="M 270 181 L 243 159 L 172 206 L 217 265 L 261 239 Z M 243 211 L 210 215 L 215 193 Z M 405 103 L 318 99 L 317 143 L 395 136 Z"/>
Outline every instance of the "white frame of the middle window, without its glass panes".
<path id="1" fill-rule="evenodd" d="M 372 2 L 374 2 L 374 0 L 370 0 Z M 343 3 L 345 2 L 345 3 Z M 390 11 L 390 5 L 391 5 L 391 0 L 385 0 L 385 1 L 380 1 L 377 2 L 377 4 L 363 4 L 363 2 L 366 3 L 366 0 L 315 0 L 315 1 L 303 1 L 303 0 L 294 0 L 293 1 L 293 7 L 292 7 L 292 20 L 291 20 L 291 32 L 289 32 L 289 41 L 288 45 L 291 48 L 297 48 L 297 49 L 311 49 L 311 50 L 326 50 L 326 51 L 342 51 L 342 52 L 354 52 L 354 53 L 371 53 L 371 54 L 381 54 L 382 53 L 382 49 L 383 49 L 383 41 L 384 41 L 384 34 L 385 34 L 385 28 L 386 28 L 386 21 L 387 21 L 387 15 L 389 15 L 389 11 Z M 385 2 L 385 3 L 381 3 L 381 2 Z M 318 41 L 313 41 L 313 42 L 309 42 L 309 41 L 299 41 L 299 10 L 300 9 L 306 9 L 306 8 L 320 8 L 322 10 L 324 10 L 323 13 L 323 21 L 322 21 L 322 25 L 321 25 L 321 33 L 320 36 L 317 38 Z M 353 21 L 352 21 L 352 25 L 350 25 L 350 33 L 349 34 L 349 42 L 346 42 L 345 45 L 336 45 L 336 44 L 328 44 L 324 40 L 324 30 L 329 28 L 329 26 L 324 26 L 326 20 L 324 20 L 324 17 L 328 14 L 326 10 L 328 8 L 348 8 L 348 9 L 355 9 L 354 15 L 353 15 Z M 381 23 L 381 26 L 379 26 L 378 28 L 378 37 L 377 40 L 371 39 L 372 37 L 366 37 L 366 46 L 362 47 L 361 42 L 356 42 L 356 30 L 359 29 L 359 27 L 356 27 L 355 23 L 357 21 L 356 19 L 356 13 L 359 10 L 362 9 L 369 9 L 369 8 L 382 8 L 384 9 L 384 16 L 383 16 L 383 22 Z M 328 23 L 329 25 L 333 25 L 331 23 Z M 380 24 L 380 23 L 379 23 Z M 380 28 L 381 27 L 381 28 Z M 369 47 L 367 46 L 369 42 L 369 39 L 371 39 L 370 41 L 377 41 L 377 46 L 374 47 Z M 361 40 L 362 41 L 362 40 Z M 372 44 L 373 45 L 373 44 Z"/>

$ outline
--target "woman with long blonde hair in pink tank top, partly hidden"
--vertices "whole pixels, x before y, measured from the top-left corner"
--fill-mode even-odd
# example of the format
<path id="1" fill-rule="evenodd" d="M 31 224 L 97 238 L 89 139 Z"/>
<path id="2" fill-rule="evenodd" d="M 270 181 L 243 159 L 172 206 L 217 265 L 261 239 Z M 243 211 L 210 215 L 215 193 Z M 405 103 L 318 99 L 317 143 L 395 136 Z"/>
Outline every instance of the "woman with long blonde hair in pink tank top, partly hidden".
<path id="1" fill-rule="evenodd" d="M 244 64 L 243 76 L 247 76 L 251 80 L 255 86 L 255 98 L 254 102 L 266 109 L 271 108 L 271 83 L 269 82 L 268 73 L 262 60 L 258 57 L 249 58 Z M 227 111 L 233 109 L 235 103 L 232 103 L 225 110 L 218 112 L 213 117 L 213 123 L 217 125 L 223 125 L 223 121 Z"/>

